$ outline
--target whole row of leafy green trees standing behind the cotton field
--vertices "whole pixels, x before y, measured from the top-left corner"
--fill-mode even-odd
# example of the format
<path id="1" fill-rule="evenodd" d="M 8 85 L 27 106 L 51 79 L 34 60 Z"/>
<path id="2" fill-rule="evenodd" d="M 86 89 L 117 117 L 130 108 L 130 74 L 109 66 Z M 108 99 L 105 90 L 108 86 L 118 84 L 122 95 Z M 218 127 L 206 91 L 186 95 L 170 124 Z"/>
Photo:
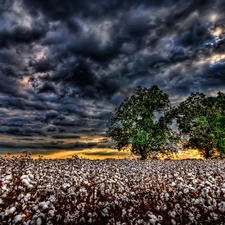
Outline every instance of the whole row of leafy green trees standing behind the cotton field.
<path id="1" fill-rule="evenodd" d="M 225 94 L 207 97 L 191 95 L 172 106 L 169 95 L 157 85 L 138 86 L 130 97 L 115 109 L 107 136 L 119 151 L 147 159 L 157 153 L 197 148 L 205 158 L 215 152 L 225 156 Z"/>

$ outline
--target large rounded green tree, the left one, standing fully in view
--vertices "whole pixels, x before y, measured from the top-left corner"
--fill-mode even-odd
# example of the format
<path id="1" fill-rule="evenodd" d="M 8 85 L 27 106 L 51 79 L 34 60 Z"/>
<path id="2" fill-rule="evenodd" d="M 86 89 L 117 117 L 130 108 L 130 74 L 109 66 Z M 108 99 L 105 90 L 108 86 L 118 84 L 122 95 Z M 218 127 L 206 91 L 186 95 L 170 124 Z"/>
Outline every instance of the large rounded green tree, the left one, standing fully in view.
<path id="1" fill-rule="evenodd" d="M 160 151 L 167 140 L 168 126 L 164 112 L 170 107 L 169 96 L 157 85 L 151 88 L 138 86 L 133 95 L 115 109 L 107 136 L 116 141 L 117 149 L 130 147 L 135 154 L 146 159 Z"/>

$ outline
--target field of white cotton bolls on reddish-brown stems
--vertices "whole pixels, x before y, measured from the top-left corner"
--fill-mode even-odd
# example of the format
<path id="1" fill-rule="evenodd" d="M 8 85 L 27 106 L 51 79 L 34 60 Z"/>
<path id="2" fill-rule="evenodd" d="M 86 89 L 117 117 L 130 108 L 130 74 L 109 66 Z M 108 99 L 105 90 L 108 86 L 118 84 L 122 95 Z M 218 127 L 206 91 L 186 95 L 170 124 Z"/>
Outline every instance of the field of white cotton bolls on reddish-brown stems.
<path id="1" fill-rule="evenodd" d="M 221 160 L 0 158 L 0 224 L 225 224 Z"/>

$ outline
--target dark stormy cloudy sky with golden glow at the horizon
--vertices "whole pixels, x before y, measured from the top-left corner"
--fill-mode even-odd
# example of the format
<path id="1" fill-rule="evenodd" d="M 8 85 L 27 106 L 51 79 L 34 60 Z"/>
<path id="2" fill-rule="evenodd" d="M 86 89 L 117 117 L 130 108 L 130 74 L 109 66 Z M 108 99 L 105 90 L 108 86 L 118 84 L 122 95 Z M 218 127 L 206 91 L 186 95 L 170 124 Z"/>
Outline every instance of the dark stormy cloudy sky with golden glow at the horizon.
<path id="1" fill-rule="evenodd" d="M 224 0 L 0 0 L 0 154 L 125 157 L 105 137 L 138 85 L 225 91 Z"/>

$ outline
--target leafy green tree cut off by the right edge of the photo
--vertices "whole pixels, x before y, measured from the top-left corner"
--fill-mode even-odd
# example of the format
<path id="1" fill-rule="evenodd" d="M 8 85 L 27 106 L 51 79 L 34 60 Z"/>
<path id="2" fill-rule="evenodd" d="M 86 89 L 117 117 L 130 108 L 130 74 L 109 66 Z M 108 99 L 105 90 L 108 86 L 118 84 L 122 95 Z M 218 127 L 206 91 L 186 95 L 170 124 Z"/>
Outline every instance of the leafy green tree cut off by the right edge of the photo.
<path id="1" fill-rule="evenodd" d="M 178 129 L 188 135 L 184 147 L 198 148 L 205 158 L 210 158 L 215 148 L 224 151 L 224 123 L 221 119 L 225 112 L 224 103 L 221 92 L 217 97 L 191 93 L 184 102 L 174 106 L 166 118 L 175 119 Z"/>

